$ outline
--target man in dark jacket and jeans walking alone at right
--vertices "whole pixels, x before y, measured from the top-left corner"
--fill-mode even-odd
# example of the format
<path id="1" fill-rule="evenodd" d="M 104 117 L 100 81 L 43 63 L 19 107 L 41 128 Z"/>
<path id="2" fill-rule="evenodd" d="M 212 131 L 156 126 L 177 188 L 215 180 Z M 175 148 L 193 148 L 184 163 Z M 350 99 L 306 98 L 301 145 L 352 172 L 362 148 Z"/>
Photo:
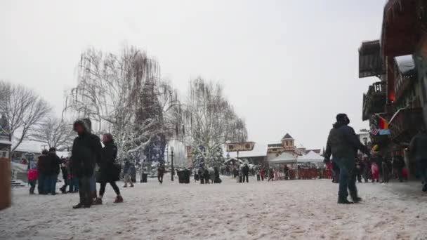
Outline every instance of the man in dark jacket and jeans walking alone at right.
<path id="1" fill-rule="evenodd" d="M 332 161 L 339 167 L 339 204 L 353 204 L 347 200 L 348 192 L 354 202 L 359 202 L 362 199 L 357 196 L 357 188 L 355 178 L 353 177 L 353 168 L 355 167 L 355 158 L 357 157 L 357 149 L 360 149 L 364 154 L 369 155 L 367 147 L 362 145 L 353 128 L 348 126 L 350 119 L 346 114 L 338 114 L 334 128 L 329 132 L 327 140 L 327 149 L 325 152 L 325 161 L 328 162 L 331 155 Z M 351 179 L 350 179 L 351 178 Z"/>

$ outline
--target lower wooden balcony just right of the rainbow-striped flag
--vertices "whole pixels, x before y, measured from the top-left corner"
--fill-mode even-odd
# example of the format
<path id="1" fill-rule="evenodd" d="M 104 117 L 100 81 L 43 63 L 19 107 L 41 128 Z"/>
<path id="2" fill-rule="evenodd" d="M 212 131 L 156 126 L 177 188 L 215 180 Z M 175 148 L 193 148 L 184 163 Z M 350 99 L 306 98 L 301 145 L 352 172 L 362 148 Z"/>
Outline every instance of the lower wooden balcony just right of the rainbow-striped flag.
<path id="1" fill-rule="evenodd" d="M 396 143 L 409 143 L 423 125 L 423 109 L 421 107 L 399 109 L 388 124 L 391 140 Z"/>

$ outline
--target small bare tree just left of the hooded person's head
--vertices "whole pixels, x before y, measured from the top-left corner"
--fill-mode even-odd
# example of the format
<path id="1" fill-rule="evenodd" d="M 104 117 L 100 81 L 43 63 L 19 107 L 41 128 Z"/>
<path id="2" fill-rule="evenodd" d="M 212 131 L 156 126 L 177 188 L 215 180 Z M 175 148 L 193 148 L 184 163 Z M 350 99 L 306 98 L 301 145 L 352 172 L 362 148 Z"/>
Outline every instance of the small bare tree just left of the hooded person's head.
<path id="1" fill-rule="evenodd" d="M 58 150 L 67 149 L 72 145 L 72 124 L 57 118 L 46 118 L 34 128 L 29 138 L 37 142 L 44 142 L 49 148 Z"/>

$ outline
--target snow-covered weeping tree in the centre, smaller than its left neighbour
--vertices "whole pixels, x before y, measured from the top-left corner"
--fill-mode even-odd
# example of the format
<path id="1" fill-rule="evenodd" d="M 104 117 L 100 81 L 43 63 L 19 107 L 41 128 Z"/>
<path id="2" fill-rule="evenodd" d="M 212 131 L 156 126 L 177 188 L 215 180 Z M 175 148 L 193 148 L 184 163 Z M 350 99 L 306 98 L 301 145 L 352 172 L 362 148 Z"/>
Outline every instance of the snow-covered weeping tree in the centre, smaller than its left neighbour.
<path id="1" fill-rule="evenodd" d="M 185 141 L 192 147 L 195 161 L 208 167 L 223 163 L 226 141 L 247 140 L 244 121 L 224 97 L 222 86 L 201 78 L 190 81 L 183 121 Z"/>

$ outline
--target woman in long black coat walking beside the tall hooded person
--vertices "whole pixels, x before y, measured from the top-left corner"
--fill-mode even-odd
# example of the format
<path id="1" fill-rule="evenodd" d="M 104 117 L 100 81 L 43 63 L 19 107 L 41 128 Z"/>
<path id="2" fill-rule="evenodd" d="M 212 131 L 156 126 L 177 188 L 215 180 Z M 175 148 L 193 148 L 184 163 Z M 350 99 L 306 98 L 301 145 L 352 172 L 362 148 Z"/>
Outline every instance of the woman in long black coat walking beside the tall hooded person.
<path id="1" fill-rule="evenodd" d="M 120 195 L 119 187 L 116 185 L 116 181 L 119 180 L 120 168 L 115 164 L 117 157 L 117 146 L 114 145 L 114 140 L 110 133 L 103 135 L 104 148 L 102 152 L 102 161 L 100 163 L 100 174 L 98 176 L 98 182 L 100 182 L 99 197 L 96 199 L 94 204 L 103 204 L 103 195 L 105 193 L 105 186 L 110 183 L 112 189 L 117 194 L 117 198 L 114 204 L 122 203 L 123 198 Z"/>

